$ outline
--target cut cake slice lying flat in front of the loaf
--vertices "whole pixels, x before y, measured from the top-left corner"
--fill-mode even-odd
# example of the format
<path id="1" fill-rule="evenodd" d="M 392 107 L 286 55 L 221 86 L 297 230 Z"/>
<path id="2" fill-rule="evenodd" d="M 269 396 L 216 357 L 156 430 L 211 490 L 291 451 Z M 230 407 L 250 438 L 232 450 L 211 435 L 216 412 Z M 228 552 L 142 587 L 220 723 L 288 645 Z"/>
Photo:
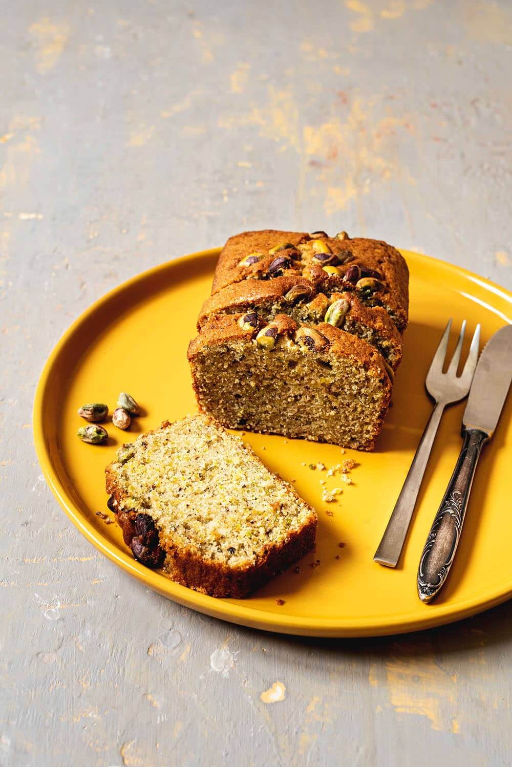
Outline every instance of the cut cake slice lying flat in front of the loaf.
<path id="1" fill-rule="evenodd" d="M 211 416 L 162 423 L 105 471 L 135 558 L 204 594 L 245 597 L 313 548 L 313 509 Z"/>

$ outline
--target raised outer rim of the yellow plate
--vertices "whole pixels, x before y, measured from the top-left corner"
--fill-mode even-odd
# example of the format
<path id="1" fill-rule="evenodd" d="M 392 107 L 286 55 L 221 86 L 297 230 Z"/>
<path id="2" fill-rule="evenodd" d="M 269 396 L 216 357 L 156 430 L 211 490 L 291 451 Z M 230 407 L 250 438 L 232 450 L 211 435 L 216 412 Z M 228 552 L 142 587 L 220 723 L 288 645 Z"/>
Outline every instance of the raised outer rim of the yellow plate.
<path id="1" fill-rule="evenodd" d="M 271 611 L 255 610 L 254 608 L 247 606 L 244 601 L 235 602 L 218 599 L 216 597 L 209 597 L 206 594 L 200 594 L 198 591 L 192 591 L 192 589 L 181 586 L 170 578 L 166 578 L 158 572 L 149 570 L 148 568 L 143 567 L 143 565 L 140 565 L 139 562 L 128 555 L 127 551 L 120 551 L 116 545 L 108 542 L 107 538 L 103 538 L 103 536 L 94 528 L 94 525 L 91 525 L 83 512 L 80 511 L 71 497 L 65 492 L 64 486 L 57 475 L 54 463 L 51 460 L 51 455 L 48 449 L 48 438 L 44 432 L 43 403 L 47 393 L 48 381 L 51 377 L 54 365 L 61 355 L 62 348 L 67 344 L 72 335 L 78 328 L 80 328 L 84 321 L 87 321 L 87 319 L 98 311 L 103 304 L 107 304 L 116 295 L 119 295 L 131 286 L 136 285 L 137 282 L 152 278 L 154 275 L 158 274 L 158 272 L 164 272 L 169 269 L 172 270 L 174 267 L 179 268 L 179 265 L 194 261 L 198 258 L 210 258 L 214 255 L 218 255 L 220 250 L 220 248 L 211 248 L 182 255 L 178 258 L 172 258 L 170 261 L 153 266 L 143 272 L 139 272 L 137 275 L 133 275 L 133 277 L 123 281 L 120 285 L 117 285 L 110 291 L 107 291 L 107 293 L 100 296 L 100 298 L 97 298 L 93 304 L 90 304 L 85 311 L 78 315 L 67 330 L 61 335 L 49 354 L 48 359 L 44 363 L 35 390 L 32 411 L 34 449 L 44 479 L 48 482 L 51 492 L 54 494 L 57 502 L 61 505 L 61 508 L 64 510 L 67 517 L 71 519 L 74 526 L 82 535 L 84 535 L 84 538 L 87 538 L 87 540 L 94 545 L 95 548 L 101 551 L 103 555 L 106 555 L 110 561 L 119 565 L 124 571 L 135 577 L 147 587 L 152 588 L 153 591 L 162 594 L 162 596 L 165 596 L 178 604 L 182 604 L 185 607 L 189 607 L 192 610 L 219 618 L 223 621 L 259 630 L 272 631 L 278 634 L 294 634 L 309 637 L 381 637 L 389 636 L 391 634 L 403 634 L 453 623 L 464 617 L 469 617 L 485 611 L 490 607 L 495 607 L 497 604 L 501 604 L 510 599 L 510 597 L 512 597 L 512 578 L 510 578 L 509 584 L 504 584 L 503 588 L 487 594 L 483 599 L 475 600 L 474 597 L 469 597 L 464 601 L 459 601 L 455 607 L 453 603 L 450 602 L 446 604 L 428 605 L 425 606 L 425 617 L 418 617 L 418 614 L 414 612 L 400 615 L 399 620 L 393 620 L 391 617 L 391 621 L 388 621 L 386 624 L 383 623 L 382 618 L 376 620 L 372 616 L 359 618 L 357 620 L 357 625 L 355 625 L 353 621 L 350 620 L 350 617 L 324 618 L 289 616 L 286 614 L 280 615 Z M 446 272 L 455 273 L 458 276 L 468 279 L 475 285 L 491 292 L 491 294 L 504 299 L 510 303 L 512 308 L 512 291 L 508 291 L 507 288 L 502 288 L 501 285 L 497 285 L 487 278 L 481 277 L 466 268 L 445 262 L 440 258 L 434 258 L 406 249 L 399 249 L 399 251 L 402 254 L 405 254 L 406 258 L 418 258 L 420 261 L 426 259 L 429 262 L 432 262 L 434 268 L 441 268 Z M 510 322 L 510 320 L 508 321 Z"/>

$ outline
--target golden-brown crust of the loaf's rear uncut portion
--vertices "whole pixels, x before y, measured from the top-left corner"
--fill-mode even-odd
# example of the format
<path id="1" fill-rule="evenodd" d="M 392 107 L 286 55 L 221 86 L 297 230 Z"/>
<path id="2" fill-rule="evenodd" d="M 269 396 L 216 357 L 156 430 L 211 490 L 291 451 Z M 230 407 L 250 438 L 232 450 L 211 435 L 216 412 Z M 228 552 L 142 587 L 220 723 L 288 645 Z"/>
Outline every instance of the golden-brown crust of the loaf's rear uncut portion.
<path id="1" fill-rule="evenodd" d="M 366 272 L 372 276 L 378 273 L 382 278 L 383 288 L 373 295 L 372 303 L 384 305 L 392 315 L 399 331 L 403 332 L 409 318 L 409 270 L 403 256 L 386 242 L 366 238 L 323 237 L 322 242 L 333 254 L 339 254 L 338 274 L 328 274 L 320 265 L 313 252 L 294 250 L 300 245 L 311 245 L 318 239 L 310 239 L 307 232 L 280 232 L 264 229 L 260 232 L 243 232 L 228 239 L 218 258 L 212 295 L 222 291 L 228 285 L 235 285 L 245 280 L 274 281 L 278 276 L 306 278 L 315 291 L 331 293 L 333 291 L 353 290 L 354 285 L 345 275 L 350 268 L 359 268 L 360 276 Z M 294 248 L 270 253 L 278 246 L 293 245 Z M 240 265 L 251 254 L 260 254 L 257 262 Z M 275 266 L 277 258 L 287 256 L 288 264 L 276 272 L 269 272 Z M 352 269 L 353 271 L 353 269 Z M 275 276 L 272 276 L 275 275 Z M 235 295 L 233 293 L 232 295 Z"/>

